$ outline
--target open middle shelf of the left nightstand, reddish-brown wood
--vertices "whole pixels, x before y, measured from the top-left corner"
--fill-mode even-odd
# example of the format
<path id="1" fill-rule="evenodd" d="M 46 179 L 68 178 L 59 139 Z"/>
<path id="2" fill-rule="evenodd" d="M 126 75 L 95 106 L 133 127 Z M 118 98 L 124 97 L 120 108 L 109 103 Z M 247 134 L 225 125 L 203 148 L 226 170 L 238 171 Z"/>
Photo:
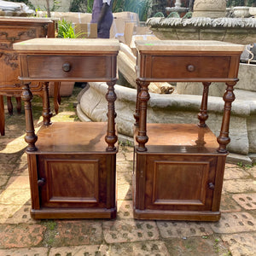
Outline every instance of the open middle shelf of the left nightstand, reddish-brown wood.
<path id="1" fill-rule="evenodd" d="M 38 131 L 38 151 L 29 154 L 106 153 L 107 128 L 108 124 L 104 122 L 57 122 L 43 125 Z"/>

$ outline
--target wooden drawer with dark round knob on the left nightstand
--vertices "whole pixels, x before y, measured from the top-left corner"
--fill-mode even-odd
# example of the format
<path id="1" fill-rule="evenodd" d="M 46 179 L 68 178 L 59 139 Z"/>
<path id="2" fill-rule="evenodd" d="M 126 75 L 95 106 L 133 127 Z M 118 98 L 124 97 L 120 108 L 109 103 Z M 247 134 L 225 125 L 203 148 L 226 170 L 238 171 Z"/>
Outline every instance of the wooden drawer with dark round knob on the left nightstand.
<path id="1" fill-rule="evenodd" d="M 88 81 L 115 77 L 111 55 L 27 55 L 22 61 L 26 61 L 26 69 L 21 71 L 21 77 L 31 80 Z"/>

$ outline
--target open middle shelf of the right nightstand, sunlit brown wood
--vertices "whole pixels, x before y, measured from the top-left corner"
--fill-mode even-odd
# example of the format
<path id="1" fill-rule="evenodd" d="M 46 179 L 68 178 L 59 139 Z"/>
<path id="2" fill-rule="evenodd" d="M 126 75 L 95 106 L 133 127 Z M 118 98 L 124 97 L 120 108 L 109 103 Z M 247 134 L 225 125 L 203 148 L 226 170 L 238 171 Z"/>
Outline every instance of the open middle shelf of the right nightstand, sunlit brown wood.
<path id="1" fill-rule="evenodd" d="M 137 129 L 134 132 L 137 135 Z M 148 124 L 147 154 L 218 154 L 218 142 L 208 127 L 194 124 Z M 143 152 L 137 151 L 137 154 Z"/>

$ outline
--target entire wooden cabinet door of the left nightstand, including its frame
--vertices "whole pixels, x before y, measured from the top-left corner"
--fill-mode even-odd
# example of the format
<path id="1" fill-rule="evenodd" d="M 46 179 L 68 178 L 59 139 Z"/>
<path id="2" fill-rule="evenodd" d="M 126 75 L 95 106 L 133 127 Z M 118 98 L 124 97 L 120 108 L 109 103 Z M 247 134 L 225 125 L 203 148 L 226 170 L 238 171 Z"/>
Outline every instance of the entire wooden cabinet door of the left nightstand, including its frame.
<path id="1" fill-rule="evenodd" d="M 79 159 L 39 156 L 41 207 L 99 207 L 106 204 L 106 162 L 99 157 Z M 99 185 L 101 184 L 101 186 Z"/>

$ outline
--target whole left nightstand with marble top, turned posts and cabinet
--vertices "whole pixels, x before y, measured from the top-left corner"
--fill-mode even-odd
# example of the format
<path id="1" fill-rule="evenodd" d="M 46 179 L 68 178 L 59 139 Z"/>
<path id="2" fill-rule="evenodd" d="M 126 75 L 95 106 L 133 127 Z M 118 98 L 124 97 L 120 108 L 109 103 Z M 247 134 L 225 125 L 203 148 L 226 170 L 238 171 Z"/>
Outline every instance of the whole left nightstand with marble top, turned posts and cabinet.
<path id="1" fill-rule="evenodd" d="M 113 85 L 117 80 L 118 40 L 37 38 L 14 47 L 20 55 L 20 79 L 24 83 L 32 218 L 115 218 Z M 66 80 L 107 82 L 108 122 L 51 124 L 49 81 Z M 38 136 L 34 133 L 28 81 L 43 82 L 44 125 Z"/>

